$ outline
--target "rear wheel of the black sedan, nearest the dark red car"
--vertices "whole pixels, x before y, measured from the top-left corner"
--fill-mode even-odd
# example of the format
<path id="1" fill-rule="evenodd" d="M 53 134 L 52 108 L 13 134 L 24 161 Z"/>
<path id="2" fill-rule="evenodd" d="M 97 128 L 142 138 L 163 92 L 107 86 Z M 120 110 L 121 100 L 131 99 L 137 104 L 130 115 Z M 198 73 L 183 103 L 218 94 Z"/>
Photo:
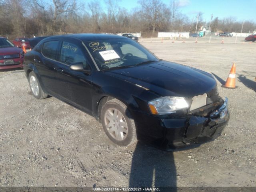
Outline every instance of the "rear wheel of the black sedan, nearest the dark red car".
<path id="1" fill-rule="evenodd" d="M 33 94 L 33 96 L 37 99 L 45 99 L 48 97 L 48 94 L 46 94 L 42 87 L 40 86 L 40 83 L 38 81 L 38 78 L 36 77 L 36 74 L 32 71 L 28 75 L 28 84 L 30 87 L 30 90 Z"/>

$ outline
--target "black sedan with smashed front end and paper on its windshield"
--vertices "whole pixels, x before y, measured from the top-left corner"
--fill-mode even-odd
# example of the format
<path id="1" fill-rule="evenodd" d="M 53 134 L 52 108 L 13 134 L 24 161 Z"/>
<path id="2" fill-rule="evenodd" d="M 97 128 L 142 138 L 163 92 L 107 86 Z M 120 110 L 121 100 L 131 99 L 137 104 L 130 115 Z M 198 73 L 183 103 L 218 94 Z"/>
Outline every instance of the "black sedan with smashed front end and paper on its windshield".
<path id="1" fill-rule="evenodd" d="M 45 38 L 25 55 L 24 70 L 35 98 L 51 95 L 94 116 L 121 146 L 200 144 L 230 118 L 211 74 L 158 59 L 122 36 Z"/>

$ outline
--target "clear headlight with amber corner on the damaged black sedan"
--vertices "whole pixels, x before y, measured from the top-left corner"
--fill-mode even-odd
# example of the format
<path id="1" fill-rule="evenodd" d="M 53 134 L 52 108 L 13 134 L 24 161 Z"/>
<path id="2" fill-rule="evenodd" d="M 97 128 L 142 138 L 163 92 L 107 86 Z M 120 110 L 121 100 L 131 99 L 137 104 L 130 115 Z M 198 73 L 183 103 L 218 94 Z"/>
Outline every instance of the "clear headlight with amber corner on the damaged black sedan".
<path id="1" fill-rule="evenodd" d="M 183 97 L 161 97 L 148 102 L 152 114 L 164 115 L 175 113 L 176 110 L 188 108 L 188 103 Z"/>

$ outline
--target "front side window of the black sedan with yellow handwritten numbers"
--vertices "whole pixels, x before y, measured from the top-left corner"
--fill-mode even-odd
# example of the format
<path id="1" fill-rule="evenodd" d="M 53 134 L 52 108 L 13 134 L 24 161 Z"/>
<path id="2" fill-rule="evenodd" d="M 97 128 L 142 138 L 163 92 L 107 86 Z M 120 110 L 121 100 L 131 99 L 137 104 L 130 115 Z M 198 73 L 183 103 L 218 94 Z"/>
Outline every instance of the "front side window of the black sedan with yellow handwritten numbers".
<path id="1" fill-rule="evenodd" d="M 63 41 L 60 51 L 60 62 L 65 64 L 72 64 L 77 62 L 82 62 L 84 68 L 89 68 L 86 58 L 84 57 L 82 51 L 76 44 Z"/>

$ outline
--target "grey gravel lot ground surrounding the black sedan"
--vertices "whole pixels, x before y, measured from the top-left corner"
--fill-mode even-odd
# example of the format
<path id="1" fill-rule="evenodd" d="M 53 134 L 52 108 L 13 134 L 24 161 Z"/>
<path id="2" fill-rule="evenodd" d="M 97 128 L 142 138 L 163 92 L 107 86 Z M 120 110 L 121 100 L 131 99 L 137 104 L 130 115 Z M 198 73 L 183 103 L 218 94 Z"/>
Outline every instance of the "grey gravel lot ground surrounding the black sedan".
<path id="1" fill-rule="evenodd" d="M 23 70 L 0 72 L 0 186 L 256 186 L 256 43 L 243 38 L 143 39 L 164 60 L 214 74 L 231 118 L 222 136 L 165 152 L 112 144 L 93 117 L 50 97 L 36 100 Z M 222 88 L 236 62 L 238 88 Z M 131 171 L 132 170 L 132 171 Z"/>

